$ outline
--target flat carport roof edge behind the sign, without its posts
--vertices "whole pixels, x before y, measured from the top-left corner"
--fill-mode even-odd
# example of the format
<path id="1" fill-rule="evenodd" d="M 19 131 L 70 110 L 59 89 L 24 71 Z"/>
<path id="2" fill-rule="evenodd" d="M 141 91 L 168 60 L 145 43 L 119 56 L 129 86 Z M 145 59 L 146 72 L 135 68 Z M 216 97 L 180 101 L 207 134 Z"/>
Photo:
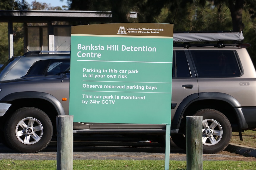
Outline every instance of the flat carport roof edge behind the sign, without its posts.
<path id="1" fill-rule="evenodd" d="M 50 10 L 0 10 L 0 22 L 88 22 L 110 21 L 111 11 L 50 11 Z M 131 18 L 136 18 L 136 12 L 130 12 Z"/>

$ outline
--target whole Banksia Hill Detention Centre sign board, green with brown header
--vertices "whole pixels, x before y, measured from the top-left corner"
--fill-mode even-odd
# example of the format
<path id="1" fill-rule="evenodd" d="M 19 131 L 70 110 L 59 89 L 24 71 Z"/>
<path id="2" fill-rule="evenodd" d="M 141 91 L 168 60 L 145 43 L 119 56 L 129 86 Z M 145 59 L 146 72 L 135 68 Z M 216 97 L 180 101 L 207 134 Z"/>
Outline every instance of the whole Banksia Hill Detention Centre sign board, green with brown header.
<path id="1" fill-rule="evenodd" d="M 170 124 L 173 25 L 72 27 L 74 122 Z"/>

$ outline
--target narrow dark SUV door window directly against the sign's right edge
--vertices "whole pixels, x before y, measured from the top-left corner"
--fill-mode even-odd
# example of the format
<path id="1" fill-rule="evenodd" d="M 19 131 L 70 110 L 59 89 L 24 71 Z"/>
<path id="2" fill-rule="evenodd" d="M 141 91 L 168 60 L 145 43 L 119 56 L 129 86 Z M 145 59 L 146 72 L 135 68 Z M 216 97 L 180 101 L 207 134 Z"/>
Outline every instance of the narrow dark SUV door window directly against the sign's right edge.
<path id="1" fill-rule="evenodd" d="M 187 57 L 184 50 L 173 51 L 173 77 L 191 77 Z"/>

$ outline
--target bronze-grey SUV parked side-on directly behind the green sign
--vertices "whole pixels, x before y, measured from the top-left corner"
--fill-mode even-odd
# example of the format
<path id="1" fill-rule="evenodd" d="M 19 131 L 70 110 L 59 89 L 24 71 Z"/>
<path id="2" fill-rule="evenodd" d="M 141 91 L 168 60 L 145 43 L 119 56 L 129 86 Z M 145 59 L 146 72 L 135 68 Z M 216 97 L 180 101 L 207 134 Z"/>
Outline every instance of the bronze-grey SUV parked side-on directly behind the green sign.
<path id="1" fill-rule="evenodd" d="M 224 44 L 219 39 L 214 44 L 175 42 L 171 138 L 185 149 L 185 116 L 201 115 L 203 153 L 218 153 L 229 144 L 232 131 L 240 132 L 242 139 L 242 131 L 256 128 L 255 68 L 243 48 L 245 44 Z M 1 130 L 5 143 L 20 152 L 43 150 L 56 132 L 56 116 L 67 115 L 69 109 L 69 67 L 45 75 L 46 67 L 43 76 L 30 75 L 31 68 L 21 79 L 0 82 Z M 165 125 L 74 122 L 74 133 L 161 136 L 165 135 Z"/>

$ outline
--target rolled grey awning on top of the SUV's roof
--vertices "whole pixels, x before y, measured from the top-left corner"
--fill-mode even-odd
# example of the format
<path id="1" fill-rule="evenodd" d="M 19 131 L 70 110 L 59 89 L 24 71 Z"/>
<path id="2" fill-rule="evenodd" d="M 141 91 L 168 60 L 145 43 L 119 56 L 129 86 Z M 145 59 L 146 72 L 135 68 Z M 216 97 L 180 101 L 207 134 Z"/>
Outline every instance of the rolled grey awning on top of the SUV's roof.
<path id="1" fill-rule="evenodd" d="M 242 41 L 241 33 L 227 32 L 178 32 L 173 34 L 173 42 L 212 42 L 212 41 Z"/>

